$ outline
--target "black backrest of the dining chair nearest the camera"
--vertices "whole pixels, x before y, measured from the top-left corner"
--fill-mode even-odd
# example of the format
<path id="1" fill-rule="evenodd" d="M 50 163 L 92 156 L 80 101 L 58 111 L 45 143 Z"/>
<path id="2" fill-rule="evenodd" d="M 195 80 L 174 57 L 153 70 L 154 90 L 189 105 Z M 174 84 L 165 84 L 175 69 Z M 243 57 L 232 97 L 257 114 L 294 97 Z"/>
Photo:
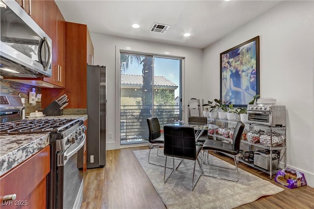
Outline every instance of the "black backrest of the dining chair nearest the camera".
<path id="1" fill-rule="evenodd" d="M 196 143 L 193 127 L 165 125 L 163 134 L 164 155 L 195 160 Z"/>

